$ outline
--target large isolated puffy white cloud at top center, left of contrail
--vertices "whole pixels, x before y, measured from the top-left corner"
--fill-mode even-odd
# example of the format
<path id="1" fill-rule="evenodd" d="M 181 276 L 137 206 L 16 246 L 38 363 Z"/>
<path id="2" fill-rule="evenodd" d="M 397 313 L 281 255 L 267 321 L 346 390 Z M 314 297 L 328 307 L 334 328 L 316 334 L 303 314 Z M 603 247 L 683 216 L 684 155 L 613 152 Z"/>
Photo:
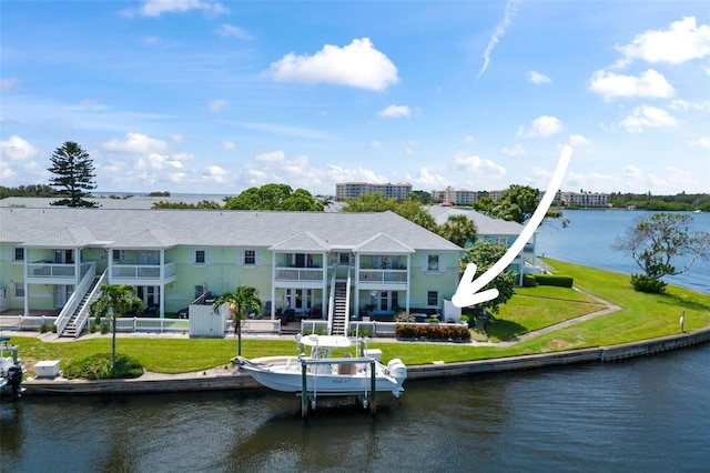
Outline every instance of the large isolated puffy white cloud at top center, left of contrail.
<path id="1" fill-rule="evenodd" d="M 276 81 L 368 90 L 385 90 L 399 81 L 395 64 L 374 48 L 369 38 L 354 39 L 343 48 L 325 44 L 314 56 L 288 53 L 271 63 L 270 73 Z"/>

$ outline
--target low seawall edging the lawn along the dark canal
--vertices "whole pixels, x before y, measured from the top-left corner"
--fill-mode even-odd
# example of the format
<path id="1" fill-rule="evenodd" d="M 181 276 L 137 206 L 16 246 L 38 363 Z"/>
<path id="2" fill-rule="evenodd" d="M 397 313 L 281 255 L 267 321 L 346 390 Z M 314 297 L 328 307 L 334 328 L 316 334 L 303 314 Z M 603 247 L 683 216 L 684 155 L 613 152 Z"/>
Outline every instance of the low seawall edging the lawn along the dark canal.
<path id="1" fill-rule="evenodd" d="M 639 342 L 554 353 L 437 363 L 407 366 L 407 382 L 450 376 L 467 376 L 520 370 L 536 370 L 568 364 L 615 362 L 650 355 L 710 341 L 710 328 Z M 225 372 L 226 371 L 226 372 Z M 166 392 L 226 391 L 263 389 L 252 376 L 229 370 L 197 373 L 150 373 L 133 380 L 64 380 L 34 379 L 23 382 L 24 395 L 42 394 L 154 394 Z"/>

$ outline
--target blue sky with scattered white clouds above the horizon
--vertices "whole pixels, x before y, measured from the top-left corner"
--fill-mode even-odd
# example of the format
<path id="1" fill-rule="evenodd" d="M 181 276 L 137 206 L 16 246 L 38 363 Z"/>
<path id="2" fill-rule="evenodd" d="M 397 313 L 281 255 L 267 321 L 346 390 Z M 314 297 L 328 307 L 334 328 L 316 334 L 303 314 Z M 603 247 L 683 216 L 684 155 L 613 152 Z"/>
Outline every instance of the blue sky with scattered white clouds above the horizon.
<path id="1" fill-rule="evenodd" d="M 0 3 L 0 185 L 710 192 L 707 1 Z"/>

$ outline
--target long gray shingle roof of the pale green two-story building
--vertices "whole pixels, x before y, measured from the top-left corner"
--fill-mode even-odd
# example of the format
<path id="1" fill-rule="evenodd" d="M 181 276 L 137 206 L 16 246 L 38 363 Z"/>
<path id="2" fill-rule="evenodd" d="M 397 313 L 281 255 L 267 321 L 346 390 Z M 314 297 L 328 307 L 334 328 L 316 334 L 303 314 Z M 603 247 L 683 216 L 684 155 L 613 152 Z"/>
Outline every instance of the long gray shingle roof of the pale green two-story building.
<path id="1" fill-rule="evenodd" d="M 87 231 L 77 235 L 79 228 Z M 354 249 L 382 233 L 415 251 L 460 250 L 393 212 L 0 208 L 0 242 L 28 246 L 271 248 L 305 232 L 313 235 L 310 244 L 321 240 L 337 249 Z"/>

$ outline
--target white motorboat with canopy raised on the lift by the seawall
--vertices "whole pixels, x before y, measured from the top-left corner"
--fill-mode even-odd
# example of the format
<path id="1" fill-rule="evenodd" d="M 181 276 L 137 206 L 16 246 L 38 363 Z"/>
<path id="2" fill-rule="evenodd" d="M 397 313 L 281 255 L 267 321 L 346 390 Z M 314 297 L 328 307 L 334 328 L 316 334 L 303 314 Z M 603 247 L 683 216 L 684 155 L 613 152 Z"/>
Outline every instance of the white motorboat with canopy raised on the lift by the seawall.
<path id="1" fill-rule="evenodd" d="M 399 359 L 384 365 L 368 354 L 362 340 L 333 335 L 306 335 L 296 338 L 302 351 L 298 356 L 265 356 L 248 360 L 243 356 L 232 362 L 251 374 L 263 386 L 275 391 L 316 395 L 359 395 L 368 397 L 374 390 L 390 391 L 399 397 L 407 379 L 407 368 Z M 310 354 L 303 352 L 310 348 Z M 335 349 L 355 348 L 356 356 L 346 352 L 333 356 Z M 374 372 L 373 372 L 374 370 Z"/>

